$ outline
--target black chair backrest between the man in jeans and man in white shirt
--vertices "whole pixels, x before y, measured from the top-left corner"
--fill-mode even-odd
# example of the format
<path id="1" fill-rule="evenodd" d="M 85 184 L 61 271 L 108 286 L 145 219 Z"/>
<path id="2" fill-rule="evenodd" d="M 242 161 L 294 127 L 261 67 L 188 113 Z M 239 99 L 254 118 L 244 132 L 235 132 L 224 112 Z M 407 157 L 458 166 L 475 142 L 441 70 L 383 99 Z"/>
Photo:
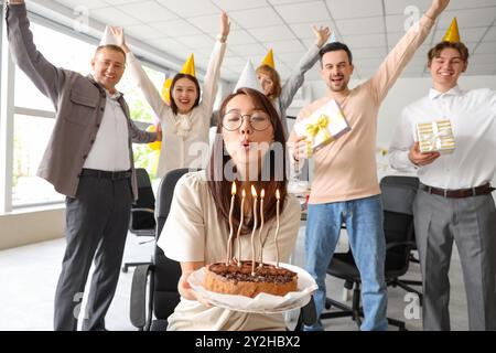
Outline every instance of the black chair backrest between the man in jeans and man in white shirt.
<path id="1" fill-rule="evenodd" d="M 389 175 L 380 181 L 387 277 L 396 278 L 408 271 L 410 252 L 414 248 L 413 201 L 418 185 L 414 176 Z"/>

